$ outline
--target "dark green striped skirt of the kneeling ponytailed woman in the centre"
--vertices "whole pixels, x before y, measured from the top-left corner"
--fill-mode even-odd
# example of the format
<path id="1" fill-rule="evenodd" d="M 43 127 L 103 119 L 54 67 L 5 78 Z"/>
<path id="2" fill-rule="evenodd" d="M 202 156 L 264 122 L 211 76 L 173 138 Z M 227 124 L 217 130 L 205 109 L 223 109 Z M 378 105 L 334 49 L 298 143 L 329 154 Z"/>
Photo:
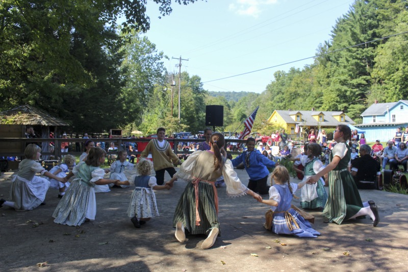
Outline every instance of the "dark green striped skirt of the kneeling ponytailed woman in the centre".
<path id="1" fill-rule="evenodd" d="M 195 202 L 194 184 L 189 182 L 175 208 L 173 227 L 175 227 L 177 222 L 182 222 L 184 228 L 190 234 L 206 235 L 208 235 L 212 228 L 219 229 L 220 223 L 215 205 L 213 185 L 202 181 L 198 183 L 198 214 L 201 219 L 199 226 L 196 226 Z M 220 235 L 220 232 L 218 235 Z"/>

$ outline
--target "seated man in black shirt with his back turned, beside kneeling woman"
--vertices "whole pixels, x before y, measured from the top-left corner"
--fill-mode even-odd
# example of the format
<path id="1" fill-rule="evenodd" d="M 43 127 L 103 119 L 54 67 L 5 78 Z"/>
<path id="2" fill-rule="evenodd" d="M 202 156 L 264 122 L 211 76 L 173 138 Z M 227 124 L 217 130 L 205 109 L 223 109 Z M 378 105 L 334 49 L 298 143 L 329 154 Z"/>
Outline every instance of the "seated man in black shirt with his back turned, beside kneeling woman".
<path id="1" fill-rule="evenodd" d="M 379 182 L 380 164 L 370 154 L 371 147 L 368 144 L 362 144 L 361 157 L 351 160 L 351 176 L 359 189 L 369 189 L 373 183 Z"/>

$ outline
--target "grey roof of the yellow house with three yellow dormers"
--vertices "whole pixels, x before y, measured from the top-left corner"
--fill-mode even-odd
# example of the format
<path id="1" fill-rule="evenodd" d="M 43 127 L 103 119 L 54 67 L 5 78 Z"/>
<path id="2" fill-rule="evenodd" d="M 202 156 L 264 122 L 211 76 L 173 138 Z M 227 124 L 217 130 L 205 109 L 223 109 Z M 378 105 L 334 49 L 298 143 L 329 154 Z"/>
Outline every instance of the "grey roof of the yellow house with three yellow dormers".
<path id="1" fill-rule="evenodd" d="M 295 111 L 276 110 L 276 113 L 278 113 L 282 117 L 282 119 L 284 119 L 286 123 L 297 123 L 298 125 L 304 125 L 304 126 L 318 126 L 320 124 L 321 127 L 325 127 L 325 126 L 332 127 L 332 126 L 337 126 L 340 123 L 343 123 L 343 124 L 350 123 L 351 125 L 355 123 L 350 117 L 348 117 L 342 111 L 321 111 L 321 112 L 319 111 L 298 111 L 302 114 L 302 120 L 300 122 L 295 121 L 293 120 L 292 117 L 290 117 L 290 115 L 293 115 L 293 112 Z M 316 113 L 323 113 L 324 121 L 318 122 L 313 117 L 313 115 L 317 115 Z M 342 113 L 345 116 L 344 122 L 339 122 L 335 117 L 333 117 L 333 116 L 339 116 Z"/>

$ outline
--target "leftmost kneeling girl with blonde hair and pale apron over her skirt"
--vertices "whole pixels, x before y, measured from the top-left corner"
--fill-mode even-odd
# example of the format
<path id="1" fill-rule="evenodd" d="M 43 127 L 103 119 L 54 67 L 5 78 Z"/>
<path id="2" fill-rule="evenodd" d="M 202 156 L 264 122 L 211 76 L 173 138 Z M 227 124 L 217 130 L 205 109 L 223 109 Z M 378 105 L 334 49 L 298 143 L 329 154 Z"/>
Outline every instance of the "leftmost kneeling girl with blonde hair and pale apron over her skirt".
<path id="1" fill-rule="evenodd" d="M 36 176 L 36 173 L 64 182 L 63 178 L 57 177 L 43 167 L 39 162 L 41 149 L 38 145 L 31 143 L 25 147 L 25 159 L 18 164 L 18 172 L 11 182 L 11 201 L 0 200 L 0 207 L 3 205 L 12 207 L 17 211 L 28 211 L 37 208 L 40 204 L 45 204 L 45 194 L 49 188 L 47 179 Z"/>

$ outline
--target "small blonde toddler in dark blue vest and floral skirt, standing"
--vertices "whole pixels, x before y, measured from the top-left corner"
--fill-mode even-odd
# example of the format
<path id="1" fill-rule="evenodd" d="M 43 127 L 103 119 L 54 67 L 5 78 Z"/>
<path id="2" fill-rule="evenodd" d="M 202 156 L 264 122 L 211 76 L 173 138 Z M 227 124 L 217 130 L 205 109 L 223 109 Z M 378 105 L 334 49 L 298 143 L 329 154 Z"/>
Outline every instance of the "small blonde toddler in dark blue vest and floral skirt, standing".
<path id="1" fill-rule="evenodd" d="M 156 195 L 153 190 L 170 189 L 168 185 L 157 185 L 156 177 L 149 176 L 152 167 L 151 161 L 141 159 L 137 164 L 139 176 L 134 175 L 131 182 L 126 180 L 116 183 L 116 185 L 135 185 L 136 187 L 132 192 L 131 203 L 127 209 L 127 216 L 131 217 L 135 228 L 146 224 L 151 217 L 159 216 Z"/>

